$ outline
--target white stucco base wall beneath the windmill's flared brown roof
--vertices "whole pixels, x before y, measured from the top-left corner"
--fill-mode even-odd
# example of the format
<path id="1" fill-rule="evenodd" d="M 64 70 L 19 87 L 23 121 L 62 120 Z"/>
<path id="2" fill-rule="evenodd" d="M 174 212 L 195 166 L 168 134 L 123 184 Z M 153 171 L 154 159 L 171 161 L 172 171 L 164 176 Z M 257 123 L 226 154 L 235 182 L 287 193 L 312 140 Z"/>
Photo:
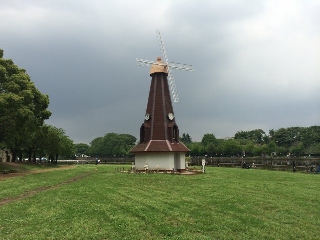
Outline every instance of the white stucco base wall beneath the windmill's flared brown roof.
<path id="1" fill-rule="evenodd" d="M 175 160 L 176 155 L 176 160 Z M 145 162 L 148 163 L 149 170 L 156 170 L 159 165 L 160 171 L 172 169 L 185 169 L 184 153 L 137 153 L 135 154 L 135 167 L 144 170 Z M 176 163 L 176 165 L 175 165 Z"/>

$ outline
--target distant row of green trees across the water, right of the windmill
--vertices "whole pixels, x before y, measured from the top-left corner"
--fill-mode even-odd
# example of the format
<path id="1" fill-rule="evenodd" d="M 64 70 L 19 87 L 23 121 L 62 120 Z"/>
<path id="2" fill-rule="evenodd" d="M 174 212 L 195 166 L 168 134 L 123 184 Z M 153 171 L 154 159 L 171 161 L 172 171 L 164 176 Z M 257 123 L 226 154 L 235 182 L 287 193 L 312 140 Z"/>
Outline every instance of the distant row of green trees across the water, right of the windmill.
<path id="1" fill-rule="evenodd" d="M 272 129 L 269 135 L 261 129 L 238 131 L 228 139 L 216 139 L 208 133 L 201 142 L 192 142 L 187 136 L 183 133 L 180 140 L 191 156 L 320 155 L 320 126 Z"/>

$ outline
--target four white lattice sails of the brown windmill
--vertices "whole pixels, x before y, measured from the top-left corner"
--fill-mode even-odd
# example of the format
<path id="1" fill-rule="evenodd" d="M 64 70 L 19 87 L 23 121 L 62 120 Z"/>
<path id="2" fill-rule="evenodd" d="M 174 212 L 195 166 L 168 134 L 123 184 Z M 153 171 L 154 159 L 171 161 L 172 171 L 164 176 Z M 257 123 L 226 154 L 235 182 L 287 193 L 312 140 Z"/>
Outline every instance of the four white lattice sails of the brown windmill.
<path id="1" fill-rule="evenodd" d="M 157 34 L 157 37 L 158 37 L 158 42 L 159 42 L 159 45 L 160 45 L 160 50 L 161 50 L 161 53 L 162 53 L 162 57 L 163 57 L 165 62 L 160 62 L 160 61 L 155 62 L 155 61 L 149 61 L 149 60 L 143 60 L 143 59 L 136 58 L 136 64 L 139 65 L 139 66 L 155 67 L 155 68 L 160 68 L 160 69 L 167 68 L 168 78 L 169 78 L 169 81 L 170 81 L 173 100 L 174 100 L 174 102 L 179 102 L 179 95 L 178 95 L 178 92 L 176 90 L 174 76 L 173 76 L 170 68 L 178 69 L 178 70 L 185 70 L 185 71 L 193 71 L 193 66 L 186 65 L 186 64 L 181 64 L 181 63 L 176 63 L 176 62 L 169 62 L 160 31 L 156 30 L 156 34 Z"/>

